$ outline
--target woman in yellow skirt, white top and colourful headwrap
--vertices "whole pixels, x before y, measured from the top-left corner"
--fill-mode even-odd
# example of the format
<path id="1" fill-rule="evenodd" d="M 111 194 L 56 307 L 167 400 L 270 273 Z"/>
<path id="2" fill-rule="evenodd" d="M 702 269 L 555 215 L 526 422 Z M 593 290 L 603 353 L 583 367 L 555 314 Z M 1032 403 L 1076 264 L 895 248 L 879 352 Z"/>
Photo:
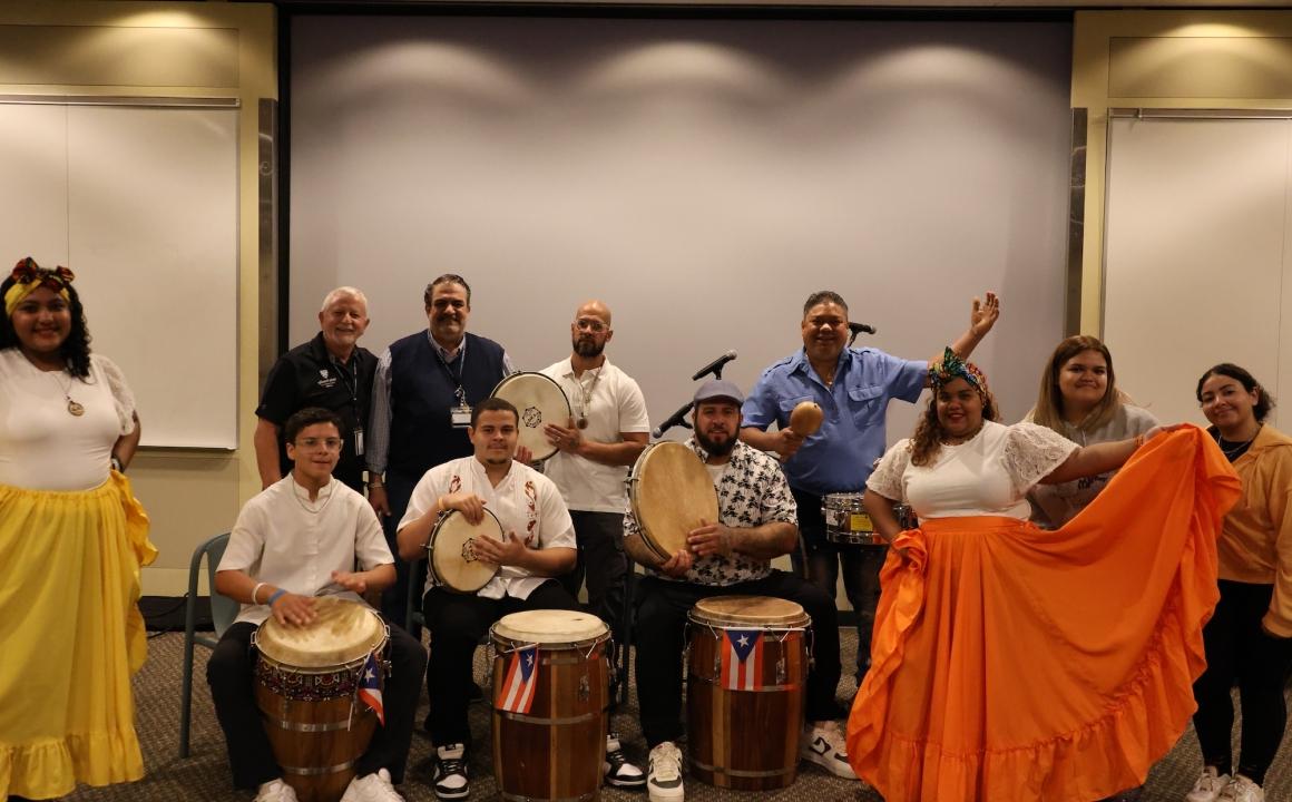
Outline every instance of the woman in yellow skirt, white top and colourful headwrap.
<path id="1" fill-rule="evenodd" d="M 0 797 L 143 776 L 130 675 L 156 550 L 121 474 L 138 416 L 72 278 L 26 258 L 0 283 Z"/>

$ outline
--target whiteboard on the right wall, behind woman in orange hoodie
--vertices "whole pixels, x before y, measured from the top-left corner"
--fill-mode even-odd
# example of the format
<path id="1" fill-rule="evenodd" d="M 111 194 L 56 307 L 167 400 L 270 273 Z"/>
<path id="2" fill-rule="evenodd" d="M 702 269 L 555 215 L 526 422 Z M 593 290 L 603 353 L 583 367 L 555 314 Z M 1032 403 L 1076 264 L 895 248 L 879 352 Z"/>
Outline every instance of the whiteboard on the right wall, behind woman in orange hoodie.
<path id="1" fill-rule="evenodd" d="M 1163 421 L 1207 424 L 1198 378 L 1221 362 L 1292 398 L 1289 147 L 1282 119 L 1111 120 L 1103 338 Z"/>

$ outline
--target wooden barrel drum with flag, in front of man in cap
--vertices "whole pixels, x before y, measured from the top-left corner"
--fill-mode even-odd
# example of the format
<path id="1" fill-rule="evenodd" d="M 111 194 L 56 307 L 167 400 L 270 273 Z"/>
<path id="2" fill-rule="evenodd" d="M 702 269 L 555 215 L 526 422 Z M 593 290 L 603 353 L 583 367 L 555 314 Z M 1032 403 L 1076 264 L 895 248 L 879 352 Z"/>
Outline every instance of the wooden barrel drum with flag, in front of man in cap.
<path id="1" fill-rule="evenodd" d="M 798 774 L 811 619 L 761 595 L 700 599 L 687 613 L 686 748 L 691 775 L 736 790 Z"/>

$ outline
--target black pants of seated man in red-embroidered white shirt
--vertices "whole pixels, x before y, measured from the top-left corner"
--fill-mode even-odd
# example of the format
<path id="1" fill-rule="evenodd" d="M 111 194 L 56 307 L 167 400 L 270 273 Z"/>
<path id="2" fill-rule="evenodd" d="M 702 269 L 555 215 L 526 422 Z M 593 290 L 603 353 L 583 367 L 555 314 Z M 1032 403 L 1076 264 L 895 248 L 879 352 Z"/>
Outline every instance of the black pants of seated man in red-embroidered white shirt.
<path id="1" fill-rule="evenodd" d="M 472 740 L 463 688 L 474 682 L 472 656 L 488 628 L 503 616 L 522 610 L 579 610 L 579 603 L 559 582 L 548 580 L 526 599 L 509 595 L 486 599 L 432 588 L 422 599 L 422 610 L 432 642 L 426 669 L 426 691 L 430 695 L 426 728 L 430 740 L 443 746 L 469 744 Z"/>

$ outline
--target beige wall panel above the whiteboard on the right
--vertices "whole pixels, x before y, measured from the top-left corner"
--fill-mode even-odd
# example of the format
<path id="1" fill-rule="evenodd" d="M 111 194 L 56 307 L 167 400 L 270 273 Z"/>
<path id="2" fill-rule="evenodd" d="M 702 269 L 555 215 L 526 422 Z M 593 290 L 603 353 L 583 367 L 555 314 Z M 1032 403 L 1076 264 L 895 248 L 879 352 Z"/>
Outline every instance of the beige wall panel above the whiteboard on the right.
<path id="1" fill-rule="evenodd" d="M 1115 36 L 1109 97 L 1292 97 L 1292 39 Z"/>

